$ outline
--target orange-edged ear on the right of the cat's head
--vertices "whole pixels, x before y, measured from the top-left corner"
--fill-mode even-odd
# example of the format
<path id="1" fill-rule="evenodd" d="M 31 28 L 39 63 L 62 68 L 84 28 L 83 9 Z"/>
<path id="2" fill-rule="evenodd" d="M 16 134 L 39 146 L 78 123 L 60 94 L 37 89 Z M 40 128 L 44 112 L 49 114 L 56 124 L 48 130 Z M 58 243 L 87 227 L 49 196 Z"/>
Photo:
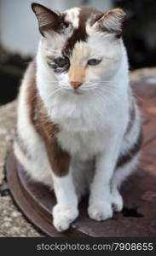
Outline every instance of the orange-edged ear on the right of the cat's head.
<path id="1" fill-rule="evenodd" d="M 122 35 L 123 22 L 125 13 L 123 9 L 112 9 L 96 20 L 95 26 L 103 32 L 110 32 L 120 38 Z"/>

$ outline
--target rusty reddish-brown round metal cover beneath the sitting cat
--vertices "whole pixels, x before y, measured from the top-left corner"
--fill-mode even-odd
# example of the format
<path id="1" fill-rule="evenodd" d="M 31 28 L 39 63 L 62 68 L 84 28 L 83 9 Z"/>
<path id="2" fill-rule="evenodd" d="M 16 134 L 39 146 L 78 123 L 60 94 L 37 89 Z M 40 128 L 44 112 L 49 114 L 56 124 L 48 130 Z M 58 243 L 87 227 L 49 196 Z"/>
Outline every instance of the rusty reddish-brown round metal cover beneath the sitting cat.
<path id="1" fill-rule="evenodd" d="M 26 216 L 49 236 L 156 236 L 156 84 L 133 84 L 142 109 L 144 142 L 137 172 L 124 183 L 124 210 L 112 219 L 95 222 L 87 216 L 87 199 L 70 230 L 59 233 L 52 226 L 51 209 L 55 195 L 39 183 L 33 183 L 14 158 L 7 160 L 7 176 L 14 200 Z M 147 94 L 146 94 L 147 91 Z"/>

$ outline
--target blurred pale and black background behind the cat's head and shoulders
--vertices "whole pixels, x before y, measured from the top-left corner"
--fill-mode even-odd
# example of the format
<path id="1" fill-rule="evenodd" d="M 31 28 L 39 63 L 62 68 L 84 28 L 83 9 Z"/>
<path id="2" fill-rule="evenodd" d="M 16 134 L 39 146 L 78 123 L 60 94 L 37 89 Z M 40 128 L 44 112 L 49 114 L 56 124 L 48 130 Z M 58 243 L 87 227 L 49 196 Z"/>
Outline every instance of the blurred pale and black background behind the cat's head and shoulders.
<path id="1" fill-rule="evenodd" d="M 0 0 L 0 105 L 17 95 L 22 74 L 38 48 L 38 23 L 32 0 Z M 130 70 L 156 67 L 156 0 L 34 0 L 50 9 L 90 6 L 107 11 L 123 8 L 124 44 Z"/>

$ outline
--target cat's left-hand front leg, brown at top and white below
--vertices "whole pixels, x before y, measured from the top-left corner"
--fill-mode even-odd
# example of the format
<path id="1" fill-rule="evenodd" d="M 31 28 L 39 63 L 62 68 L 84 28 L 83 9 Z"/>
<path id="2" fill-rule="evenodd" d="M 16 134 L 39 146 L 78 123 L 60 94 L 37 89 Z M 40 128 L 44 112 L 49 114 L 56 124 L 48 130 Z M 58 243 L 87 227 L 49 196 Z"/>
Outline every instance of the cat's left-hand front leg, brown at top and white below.
<path id="1" fill-rule="evenodd" d="M 53 224 L 58 231 L 67 230 L 78 217 L 78 196 L 72 180 L 71 159 L 55 137 L 46 142 L 57 204 L 52 210 Z"/>

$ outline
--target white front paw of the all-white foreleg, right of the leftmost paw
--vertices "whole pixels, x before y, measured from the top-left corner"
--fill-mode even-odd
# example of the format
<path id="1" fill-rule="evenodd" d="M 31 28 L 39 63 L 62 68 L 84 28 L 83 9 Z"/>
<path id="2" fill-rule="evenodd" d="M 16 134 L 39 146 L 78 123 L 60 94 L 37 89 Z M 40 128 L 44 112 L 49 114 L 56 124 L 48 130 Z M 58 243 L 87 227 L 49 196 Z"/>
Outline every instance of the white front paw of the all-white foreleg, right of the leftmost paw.
<path id="1" fill-rule="evenodd" d="M 88 208 L 90 218 L 97 221 L 106 220 L 113 217 L 113 209 L 110 203 L 92 204 Z"/>

